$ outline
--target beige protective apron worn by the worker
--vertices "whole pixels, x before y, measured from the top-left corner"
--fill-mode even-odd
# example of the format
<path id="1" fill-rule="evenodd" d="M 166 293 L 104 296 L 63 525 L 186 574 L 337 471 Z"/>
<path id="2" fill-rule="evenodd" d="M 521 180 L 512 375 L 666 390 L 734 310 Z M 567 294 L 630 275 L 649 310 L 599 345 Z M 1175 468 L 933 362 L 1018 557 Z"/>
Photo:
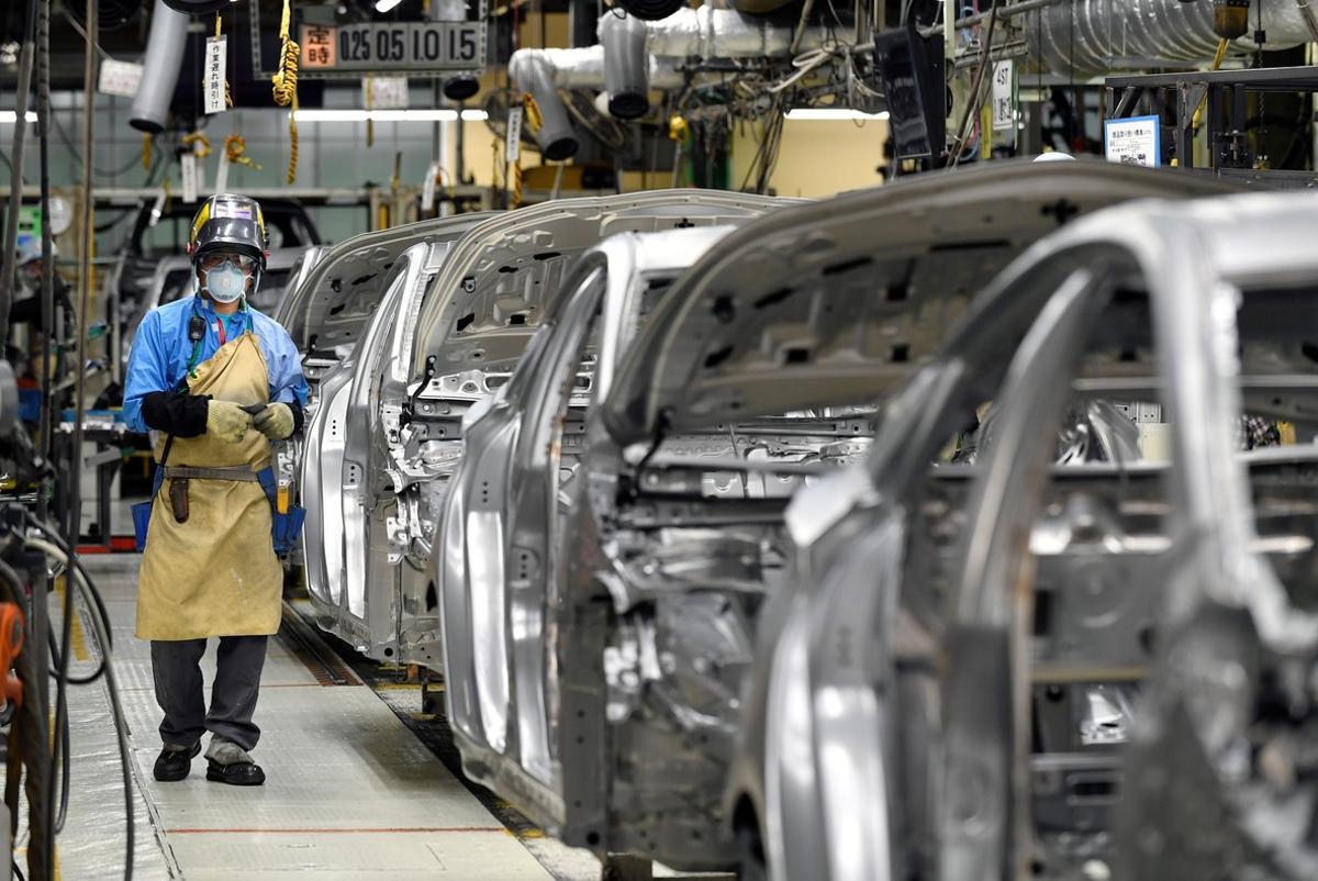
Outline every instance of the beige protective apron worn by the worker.
<path id="1" fill-rule="evenodd" d="M 270 400 L 265 356 L 252 331 L 220 347 L 188 380 L 192 394 L 240 405 Z M 156 448 L 156 460 L 165 440 Z M 270 442 L 248 429 L 239 443 L 174 438 L 169 466 L 264 468 Z M 137 638 L 261 636 L 279 629 L 283 574 L 270 541 L 270 502 L 258 483 L 188 481 L 188 517 L 174 520 L 170 479 L 161 485 L 137 582 Z"/>

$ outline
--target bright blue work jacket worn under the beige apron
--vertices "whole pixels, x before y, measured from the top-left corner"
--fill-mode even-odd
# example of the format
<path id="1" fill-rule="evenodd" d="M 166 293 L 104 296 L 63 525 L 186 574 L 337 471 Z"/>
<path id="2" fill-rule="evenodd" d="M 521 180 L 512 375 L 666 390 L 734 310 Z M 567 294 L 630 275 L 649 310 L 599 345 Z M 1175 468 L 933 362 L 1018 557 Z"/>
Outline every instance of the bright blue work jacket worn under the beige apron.
<path id="1" fill-rule="evenodd" d="M 302 376 L 302 359 L 289 331 L 270 318 L 245 305 L 232 315 L 221 318 L 203 297 L 186 297 L 159 309 L 153 309 L 142 319 L 133 338 L 128 356 L 128 377 L 124 382 L 124 422 L 132 431 L 149 431 L 142 421 L 142 397 L 152 392 L 170 392 L 178 388 L 192 356 L 192 343 L 187 339 L 187 323 L 194 310 L 206 320 L 206 336 L 196 355 L 196 364 L 208 360 L 220 348 L 219 322 L 224 322 L 224 336 L 233 340 L 248 328 L 261 344 L 269 373 L 270 401 L 299 406 L 307 405 L 307 380 Z M 194 365 L 195 368 L 195 365 Z"/>

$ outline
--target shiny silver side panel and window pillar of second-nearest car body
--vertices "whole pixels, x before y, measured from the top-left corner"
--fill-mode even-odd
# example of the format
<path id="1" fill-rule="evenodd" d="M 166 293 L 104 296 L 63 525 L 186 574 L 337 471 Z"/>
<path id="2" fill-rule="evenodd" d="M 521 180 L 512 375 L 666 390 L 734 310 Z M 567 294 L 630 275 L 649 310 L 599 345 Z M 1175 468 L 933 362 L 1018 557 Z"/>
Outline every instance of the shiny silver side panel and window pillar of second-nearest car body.
<path id="1" fill-rule="evenodd" d="M 554 743 L 561 703 L 554 574 L 567 492 L 556 475 L 573 470 L 584 421 L 573 417 L 548 448 L 543 434 L 564 406 L 581 414 L 608 394 L 655 294 L 730 229 L 619 233 L 587 252 L 511 381 L 463 429 L 469 450 L 449 488 L 434 561 L 449 721 L 468 775 L 550 828 L 565 820 L 564 775 L 576 773 Z M 593 356 L 577 364 L 575 353 L 585 349 Z M 571 376 L 564 397 L 560 379 Z"/>

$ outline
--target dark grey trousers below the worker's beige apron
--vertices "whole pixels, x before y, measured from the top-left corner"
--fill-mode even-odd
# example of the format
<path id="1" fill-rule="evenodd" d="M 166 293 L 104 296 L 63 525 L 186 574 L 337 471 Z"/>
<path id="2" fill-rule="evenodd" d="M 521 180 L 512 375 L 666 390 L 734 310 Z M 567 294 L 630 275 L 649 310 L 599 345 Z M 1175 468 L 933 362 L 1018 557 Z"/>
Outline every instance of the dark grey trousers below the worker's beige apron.
<path id="1" fill-rule="evenodd" d="M 268 636 L 224 636 L 216 655 L 211 711 L 206 711 L 202 655 L 206 640 L 152 640 L 156 703 L 165 711 L 161 740 L 166 746 L 198 743 L 207 731 L 252 749 L 261 729 L 252 724 L 261 690 Z"/>

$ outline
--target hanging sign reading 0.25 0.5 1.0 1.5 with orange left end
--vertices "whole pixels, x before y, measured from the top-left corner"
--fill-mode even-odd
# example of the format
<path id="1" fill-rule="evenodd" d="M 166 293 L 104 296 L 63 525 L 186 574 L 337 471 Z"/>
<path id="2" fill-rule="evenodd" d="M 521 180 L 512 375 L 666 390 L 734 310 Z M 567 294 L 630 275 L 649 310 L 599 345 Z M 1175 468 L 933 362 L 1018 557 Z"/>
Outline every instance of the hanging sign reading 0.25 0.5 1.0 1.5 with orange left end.
<path id="1" fill-rule="evenodd" d="M 471 70 L 484 66 L 484 21 L 302 25 L 308 70 Z"/>

